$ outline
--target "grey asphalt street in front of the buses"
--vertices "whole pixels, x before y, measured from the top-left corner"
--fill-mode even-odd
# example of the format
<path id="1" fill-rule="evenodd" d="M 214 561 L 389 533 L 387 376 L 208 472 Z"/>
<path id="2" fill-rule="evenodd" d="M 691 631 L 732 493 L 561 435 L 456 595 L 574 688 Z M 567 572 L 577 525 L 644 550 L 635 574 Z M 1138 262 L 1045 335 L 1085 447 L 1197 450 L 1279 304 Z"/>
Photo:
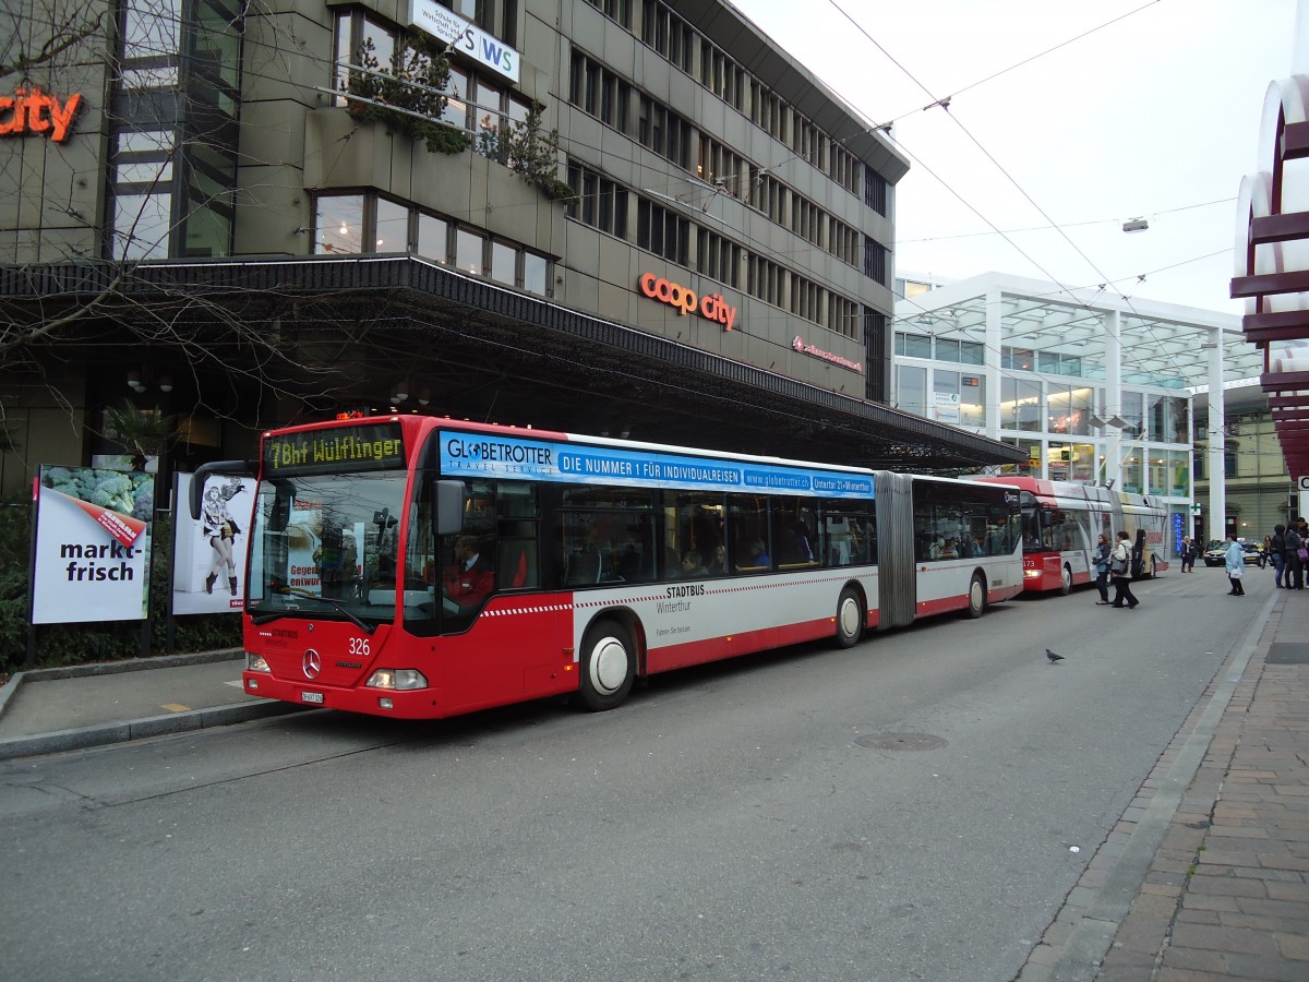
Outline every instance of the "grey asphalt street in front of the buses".
<path id="1" fill-rule="evenodd" d="M 600 715 L 308 712 L 9 761 L 5 974 L 1011 979 L 1264 579 L 1020 600 Z"/>

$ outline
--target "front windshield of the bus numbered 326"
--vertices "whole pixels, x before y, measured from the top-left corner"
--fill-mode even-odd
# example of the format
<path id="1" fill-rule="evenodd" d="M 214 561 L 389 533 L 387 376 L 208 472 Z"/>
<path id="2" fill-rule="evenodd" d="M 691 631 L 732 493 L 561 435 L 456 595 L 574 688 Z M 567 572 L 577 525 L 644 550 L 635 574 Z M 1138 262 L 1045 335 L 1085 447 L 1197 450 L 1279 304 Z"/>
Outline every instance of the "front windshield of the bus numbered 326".
<path id="1" fill-rule="evenodd" d="M 340 618 L 372 630 L 395 617 L 403 470 L 266 479 L 250 529 L 247 611 Z"/>

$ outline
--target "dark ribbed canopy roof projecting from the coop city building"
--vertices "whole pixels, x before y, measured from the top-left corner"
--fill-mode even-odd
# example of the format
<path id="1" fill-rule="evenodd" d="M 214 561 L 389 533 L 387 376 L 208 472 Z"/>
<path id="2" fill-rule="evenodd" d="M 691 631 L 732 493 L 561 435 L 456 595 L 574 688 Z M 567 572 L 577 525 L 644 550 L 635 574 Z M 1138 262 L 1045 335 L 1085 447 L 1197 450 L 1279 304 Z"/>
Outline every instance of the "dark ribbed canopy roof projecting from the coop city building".
<path id="1" fill-rule="evenodd" d="M 38 306 L 50 317 L 101 296 L 118 271 L 0 267 L 0 301 L 10 318 Z M 249 371 L 263 356 L 260 371 L 280 372 L 280 390 L 322 414 L 385 409 L 406 378 L 431 391 L 421 411 L 479 422 L 894 470 L 1022 460 L 1014 446 L 414 257 L 141 263 L 97 304 L 94 319 L 171 342 L 192 360 Z M 295 352 L 304 371 L 271 364 L 255 338 Z M 401 409 L 416 409 L 418 394 Z M 274 422 L 287 420 L 260 424 Z"/>

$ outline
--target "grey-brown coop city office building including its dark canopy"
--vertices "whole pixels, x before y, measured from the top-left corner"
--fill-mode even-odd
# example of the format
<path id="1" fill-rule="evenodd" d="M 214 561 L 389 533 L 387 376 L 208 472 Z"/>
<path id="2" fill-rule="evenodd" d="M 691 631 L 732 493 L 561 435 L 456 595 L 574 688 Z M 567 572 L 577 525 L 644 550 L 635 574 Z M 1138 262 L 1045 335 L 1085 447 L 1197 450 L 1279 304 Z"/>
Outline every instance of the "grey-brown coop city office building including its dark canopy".
<path id="1" fill-rule="evenodd" d="M 182 467 L 338 411 L 1013 456 L 886 406 L 907 161 L 729 4 L 22 8 L 5 491 L 123 398 Z"/>

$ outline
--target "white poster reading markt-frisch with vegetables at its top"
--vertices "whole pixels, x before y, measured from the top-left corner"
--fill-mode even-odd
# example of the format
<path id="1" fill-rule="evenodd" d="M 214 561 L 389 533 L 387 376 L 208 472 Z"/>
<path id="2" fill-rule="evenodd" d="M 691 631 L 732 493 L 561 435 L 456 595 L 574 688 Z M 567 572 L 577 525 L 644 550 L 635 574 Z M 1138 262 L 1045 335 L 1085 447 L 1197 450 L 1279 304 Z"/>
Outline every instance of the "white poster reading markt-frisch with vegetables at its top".
<path id="1" fill-rule="evenodd" d="M 154 475 L 42 465 L 34 498 L 31 623 L 144 621 Z"/>

